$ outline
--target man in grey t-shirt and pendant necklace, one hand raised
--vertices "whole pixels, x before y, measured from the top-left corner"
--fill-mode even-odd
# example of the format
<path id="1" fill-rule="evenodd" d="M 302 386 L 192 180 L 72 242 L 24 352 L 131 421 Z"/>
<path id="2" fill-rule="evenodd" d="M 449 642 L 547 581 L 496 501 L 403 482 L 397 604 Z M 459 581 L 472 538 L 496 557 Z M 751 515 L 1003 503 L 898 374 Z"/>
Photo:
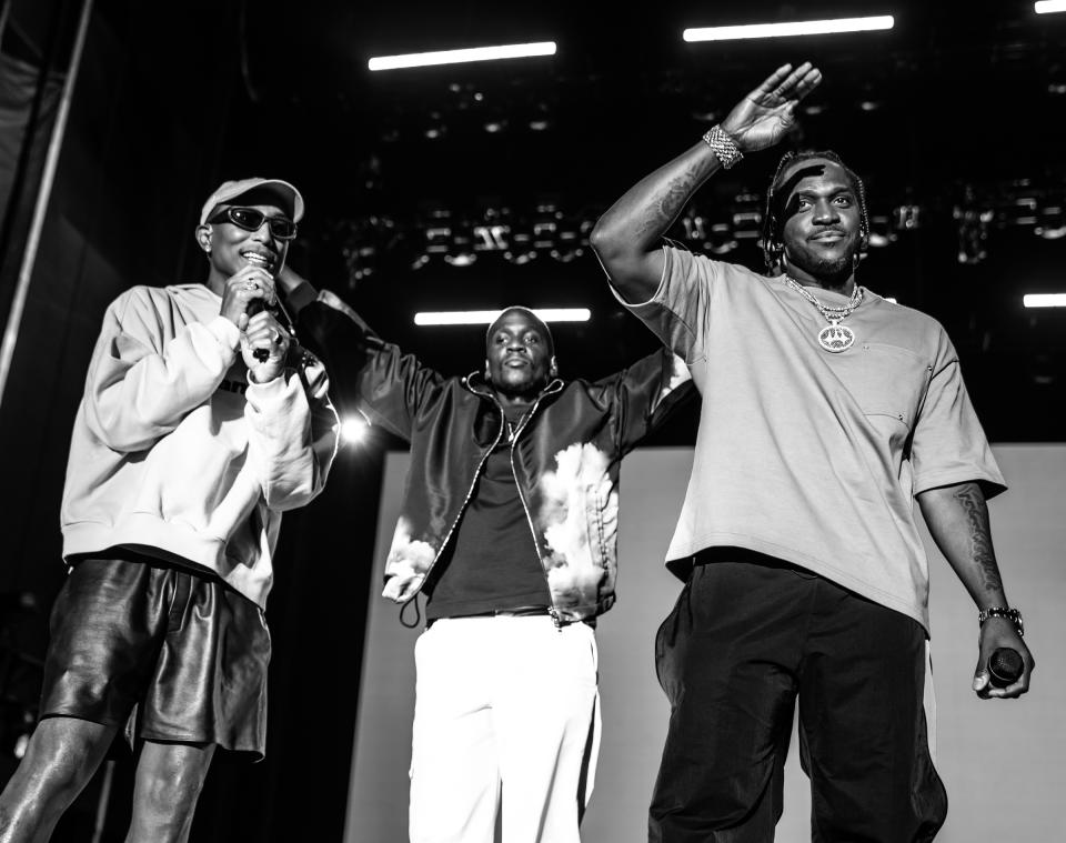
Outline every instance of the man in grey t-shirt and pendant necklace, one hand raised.
<path id="1" fill-rule="evenodd" d="M 985 505 L 1003 476 L 943 328 L 856 283 L 862 181 L 833 152 L 787 153 L 767 191 L 765 275 L 662 245 L 707 178 L 788 132 L 821 78 L 778 68 L 592 235 L 619 298 L 685 359 L 703 402 L 667 554 L 685 586 L 656 642 L 671 719 L 652 841 L 772 840 L 797 696 L 813 839 L 933 839 L 947 803 L 923 709 L 914 496 L 979 610 L 974 691 L 1029 685 Z M 998 648 L 1024 661 L 1005 688 L 989 682 Z"/>

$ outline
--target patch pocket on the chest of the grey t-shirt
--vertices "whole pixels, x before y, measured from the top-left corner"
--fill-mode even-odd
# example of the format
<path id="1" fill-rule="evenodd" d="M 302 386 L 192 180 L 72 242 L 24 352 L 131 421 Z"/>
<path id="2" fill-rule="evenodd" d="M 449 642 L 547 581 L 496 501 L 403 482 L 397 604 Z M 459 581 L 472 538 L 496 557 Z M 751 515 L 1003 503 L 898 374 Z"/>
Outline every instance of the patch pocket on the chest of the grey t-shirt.
<path id="1" fill-rule="evenodd" d="M 842 377 L 856 403 L 866 415 L 889 417 L 909 431 L 928 389 L 928 362 L 898 345 L 864 342 L 856 350 Z"/>

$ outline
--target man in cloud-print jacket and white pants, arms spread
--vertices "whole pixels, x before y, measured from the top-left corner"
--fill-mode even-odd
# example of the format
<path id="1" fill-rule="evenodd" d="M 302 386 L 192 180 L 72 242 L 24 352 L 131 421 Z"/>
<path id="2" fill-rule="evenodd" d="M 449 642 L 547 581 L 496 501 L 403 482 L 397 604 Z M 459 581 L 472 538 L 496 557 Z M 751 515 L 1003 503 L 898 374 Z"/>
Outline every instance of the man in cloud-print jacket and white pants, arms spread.
<path id="1" fill-rule="evenodd" d="M 619 469 L 690 391 L 665 349 L 561 380 L 532 311 L 445 378 L 328 291 L 279 284 L 360 409 L 411 444 L 384 596 L 426 598 L 415 646 L 413 843 L 577 843 L 599 747 L 595 619 L 614 603 Z M 345 390 L 346 392 L 346 390 Z M 502 812 L 500 805 L 502 804 Z"/>

